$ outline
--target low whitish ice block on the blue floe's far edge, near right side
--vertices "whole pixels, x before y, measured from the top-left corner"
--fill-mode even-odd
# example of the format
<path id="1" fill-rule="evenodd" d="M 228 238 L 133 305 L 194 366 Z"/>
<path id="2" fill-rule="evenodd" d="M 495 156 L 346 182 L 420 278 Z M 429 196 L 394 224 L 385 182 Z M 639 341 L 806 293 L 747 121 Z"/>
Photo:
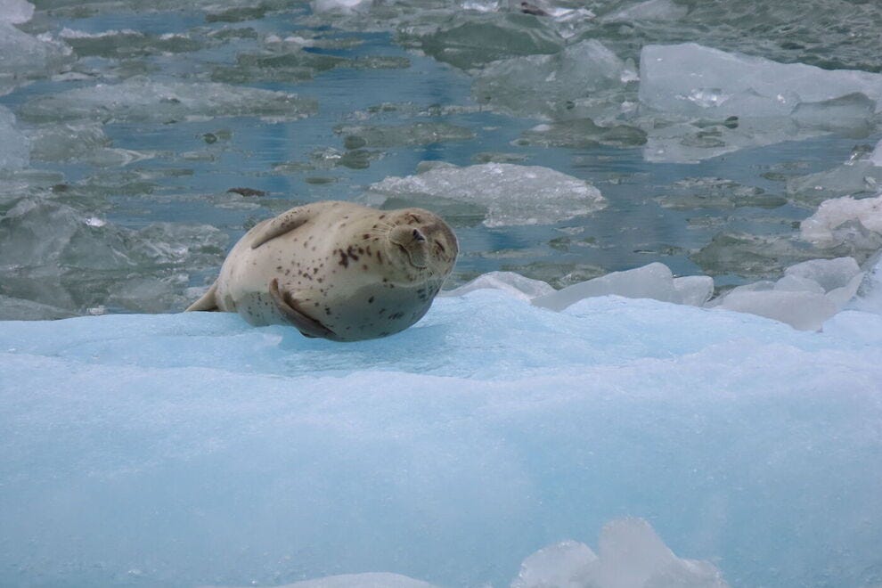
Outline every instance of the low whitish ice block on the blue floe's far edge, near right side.
<path id="1" fill-rule="evenodd" d="M 823 292 L 805 290 L 731 290 L 716 307 L 758 314 L 800 331 L 820 330 L 838 310 Z"/>

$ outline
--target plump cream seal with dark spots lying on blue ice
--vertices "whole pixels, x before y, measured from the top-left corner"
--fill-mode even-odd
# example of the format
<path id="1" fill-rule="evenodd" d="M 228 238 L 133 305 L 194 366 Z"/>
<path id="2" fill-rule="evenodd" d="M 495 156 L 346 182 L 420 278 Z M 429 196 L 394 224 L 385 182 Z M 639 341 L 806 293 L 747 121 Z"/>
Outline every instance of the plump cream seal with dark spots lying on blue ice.
<path id="1" fill-rule="evenodd" d="M 428 210 L 316 202 L 245 233 L 187 311 L 236 312 L 335 341 L 386 337 L 426 314 L 458 252 L 453 230 Z"/>

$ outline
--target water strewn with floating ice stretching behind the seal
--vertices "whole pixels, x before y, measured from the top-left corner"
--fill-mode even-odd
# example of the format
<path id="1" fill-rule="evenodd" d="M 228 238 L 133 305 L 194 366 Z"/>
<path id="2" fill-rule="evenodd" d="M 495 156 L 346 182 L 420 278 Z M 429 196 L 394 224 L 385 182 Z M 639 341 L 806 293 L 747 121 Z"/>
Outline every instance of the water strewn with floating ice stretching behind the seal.
<path id="1" fill-rule="evenodd" d="M 8 4 L 10 13 L 19 5 Z M 250 225 L 314 200 L 437 208 L 461 241 L 449 286 L 502 269 L 561 287 L 661 261 L 674 274 L 711 274 L 725 288 L 780 277 L 805 259 L 860 262 L 872 252 L 800 240 L 799 222 L 823 199 L 788 188 L 872 151 L 879 135 L 871 105 L 802 99 L 828 109 L 821 117 L 833 123 L 819 129 L 801 118 L 794 127 L 789 115 L 751 123 L 751 109 L 766 116 L 755 105 L 657 114 L 638 96 L 649 43 L 698 41 L 878 71 L 878 61 L 854 51 L 875 47 L 864 29 L 879 18 L 870 4 L 817 4 L 817 22 L 778 45 L 795 13 L 750 14 L 750 3 L 721 4 L 720 14 L 666 2 L 559 3 L 544 6 L 545 16 L 493 2 L 337 4 L 37 3 L 19 26 L 49 49 L 23 50 L 22 69 L 0 96 L 15 117 L 7 143 L 30 145 L 29 160 L 7 162 L 3 172 L 0 294 L 45 305 L 15 316 L 179 310 Z M 726 12 L 734 20 L 723 24 Z M 851 32 L 824 29 L 837 14 L 853 20 Z M 826 53 L 818 45 L 825 40 Z M 299 102 L 273 102 L 279 94 L 211 102 L 237 88 Z M 735 130 L 723 116 L 732 113 L 741 118 Z M 669 127 L 673 140 L 655 136 Z M 610 128 L 617 132 L 604 133 Z M 658 156 L 659 141 L 685 151 Z M 488 161 L 519 166 L 506 168 L 510 177 L 539 166 L 584 181 L 600 190 L 603 208 L 579 214 L 565 195 L 551 200 L 551 213 L 520 209 L 498 224 L 488 221 L 493 207 L 508 212 L 507 200 L 519 199 L 505 192 L 519 182 L 494 197 L 490 213 L 480 198 L 450 200 L 443 188 L 428 197 L 366 195 L 433 162 Z M 493 192 L 492 178 L 473 177 L 475 194 Z M 867 186 L 858 188 L 851 192 Z"/>

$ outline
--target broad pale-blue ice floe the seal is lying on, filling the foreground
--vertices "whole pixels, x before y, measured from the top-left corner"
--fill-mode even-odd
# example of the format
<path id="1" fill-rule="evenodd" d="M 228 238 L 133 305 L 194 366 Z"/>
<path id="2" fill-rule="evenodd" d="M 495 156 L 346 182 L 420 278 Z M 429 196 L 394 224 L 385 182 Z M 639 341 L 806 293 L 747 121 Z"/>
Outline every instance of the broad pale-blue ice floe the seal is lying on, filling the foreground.
<path id="1" fill-rule="evenodd" d="M 0 584 L 556 585 L 571 556 L 572 585 L 878 584 L 879 319 L 480 290 L 347 345 L 234 314 L 0 323 Z M 643 579 L 588 583 L 617 558 Z"/>

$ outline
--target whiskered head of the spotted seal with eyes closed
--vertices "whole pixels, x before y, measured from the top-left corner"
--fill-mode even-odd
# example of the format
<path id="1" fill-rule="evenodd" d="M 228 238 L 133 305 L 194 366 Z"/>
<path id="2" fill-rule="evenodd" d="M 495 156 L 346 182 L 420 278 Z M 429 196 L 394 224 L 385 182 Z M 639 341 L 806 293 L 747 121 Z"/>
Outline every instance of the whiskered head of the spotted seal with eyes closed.
<path id="1" fill-rule="evenodd" d="M 443 282 L 459 252 L 450 226 L 422 208 L 395 210 L 385 220 L 392 263 L 412 282 Z"/>

